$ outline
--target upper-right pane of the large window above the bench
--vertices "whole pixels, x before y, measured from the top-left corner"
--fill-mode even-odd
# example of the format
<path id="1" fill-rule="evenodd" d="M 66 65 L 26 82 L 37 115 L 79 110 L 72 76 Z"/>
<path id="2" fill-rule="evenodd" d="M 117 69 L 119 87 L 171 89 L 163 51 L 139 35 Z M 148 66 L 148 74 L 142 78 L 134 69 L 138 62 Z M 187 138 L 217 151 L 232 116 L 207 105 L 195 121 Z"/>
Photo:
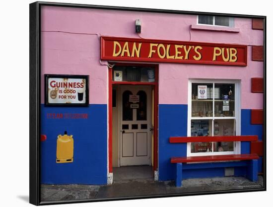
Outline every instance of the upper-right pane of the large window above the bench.
<path id="1" fill-rule="evenodd" d="M 215 96 L 214 116 L 234 117 L 235 116 L 235 84 L 215 83 L 214 91 L 218 91 Z"/>

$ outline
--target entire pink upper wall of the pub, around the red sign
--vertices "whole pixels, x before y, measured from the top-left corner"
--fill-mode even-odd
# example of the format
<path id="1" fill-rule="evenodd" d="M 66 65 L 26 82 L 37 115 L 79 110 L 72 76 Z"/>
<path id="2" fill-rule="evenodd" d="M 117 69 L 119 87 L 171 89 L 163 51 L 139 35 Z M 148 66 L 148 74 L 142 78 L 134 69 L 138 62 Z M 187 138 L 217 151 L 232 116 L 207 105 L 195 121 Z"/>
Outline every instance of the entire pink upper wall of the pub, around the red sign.
<path id="1" fill-rule="evenodd" d="M 99 61 L 100 35 L 263 45 L 263 31 L 252 30 L 251 19 L 235 18 L 240 32 L 232 33 L 192 30 L 195 15 L 44 6 L 41 17 L 42 93 L 44 73 L 89 74 L 91 104 L 107 103 L 108 70 Z M 139 36 L 136 19 L 142 22 Z M 248 47 L 247 67 L 159 64 L 159 103 L 187 104 L 188 78 L 221 78 L 242 80 L 243 109 L 263 108 L 262 94 L 251 93 L 251 77 L 263 77 L 263 62 L 250 57 Z"/>

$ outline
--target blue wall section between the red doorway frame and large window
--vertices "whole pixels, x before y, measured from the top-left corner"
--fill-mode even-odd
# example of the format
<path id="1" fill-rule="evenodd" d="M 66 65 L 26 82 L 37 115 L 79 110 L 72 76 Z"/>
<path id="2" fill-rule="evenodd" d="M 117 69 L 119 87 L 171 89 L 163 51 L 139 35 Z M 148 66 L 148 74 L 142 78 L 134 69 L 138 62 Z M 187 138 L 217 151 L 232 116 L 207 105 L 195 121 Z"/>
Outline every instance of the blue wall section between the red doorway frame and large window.
<path id="1" fill-rule="evenodd" d="M 173 180 L 174 156 L 187 156 L 187 143 L 172 144 L 171 136 L 187 136 L 188 105 L 159 104 L 158 173 L 159 180 Z"/>

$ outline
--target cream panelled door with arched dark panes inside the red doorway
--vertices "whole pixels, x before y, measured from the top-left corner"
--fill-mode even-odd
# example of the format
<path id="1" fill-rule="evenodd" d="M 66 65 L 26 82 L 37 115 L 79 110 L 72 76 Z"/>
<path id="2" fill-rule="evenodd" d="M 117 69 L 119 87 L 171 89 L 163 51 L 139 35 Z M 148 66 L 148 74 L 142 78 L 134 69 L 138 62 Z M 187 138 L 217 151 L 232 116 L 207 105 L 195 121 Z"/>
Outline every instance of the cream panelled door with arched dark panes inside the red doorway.
<path id="1" fill-rule="evenodd" d="M 151 165 L 151 86 L 120 92 L 120 165 Z"/>

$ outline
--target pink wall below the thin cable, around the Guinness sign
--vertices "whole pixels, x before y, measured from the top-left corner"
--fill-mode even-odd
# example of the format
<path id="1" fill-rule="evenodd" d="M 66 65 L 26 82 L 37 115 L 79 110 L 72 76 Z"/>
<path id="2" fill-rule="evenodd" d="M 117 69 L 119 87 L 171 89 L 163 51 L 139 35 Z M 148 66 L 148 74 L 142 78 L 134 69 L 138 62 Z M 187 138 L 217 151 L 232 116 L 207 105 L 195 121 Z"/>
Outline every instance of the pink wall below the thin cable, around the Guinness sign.
<path id="1" fill-rule="evenodd" d="M 89 75 L 89 103 L 107 103 L 107 66 L 99 62 L 100 44 L 96 35 L 42 32 L 41 103 L 44 103 L 43 74 Z"/>

